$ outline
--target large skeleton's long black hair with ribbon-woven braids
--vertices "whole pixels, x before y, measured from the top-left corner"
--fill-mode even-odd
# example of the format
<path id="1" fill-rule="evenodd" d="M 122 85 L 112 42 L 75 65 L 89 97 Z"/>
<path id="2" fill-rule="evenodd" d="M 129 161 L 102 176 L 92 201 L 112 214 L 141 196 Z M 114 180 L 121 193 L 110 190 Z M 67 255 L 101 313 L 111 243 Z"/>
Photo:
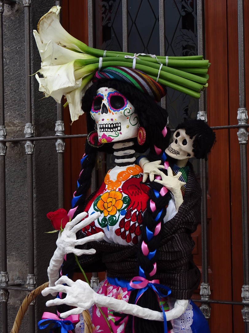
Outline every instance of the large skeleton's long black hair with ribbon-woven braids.
<path id="1" fill-rule="evenodd" d="M 161 155 L 163 155 L 165 147 L 168 147 L 169 139 L 171 136 L 170 131 L 164 130 L 165 125 L 167 123 L 168 114 L 165 109 L 161 108 L 151 97 L 144 95 L 142 92 L 138 91 L 130 84 L 126 84 L 124 82 L 116 81 L 116 80 L 98 80 L 94 83 L 87 91 L 82 100 L 82 109 L 86 112 L 87 118 L 87 130 L 88 133 L 93 131 L 95 128 L 95 121 L 90 116 L 90 110 L 92 107 L 93 98 L 96 96 L 96 92 L 101 87 L 108 87 L 113 88 L 122 93 L 129 102 L 135 108 L 135 112 L 138 114 L 139 124 L 140 126 L 144 127 L 146 131 L 146 140 L 144 145 L 141 147 L 136 143 L 135 140 L 135 147 L 134 150 L 136 152 L 145 152 L 148 148 L 149 151 L 149 160 L 155 161 L 160 160 Z M 164 130 L 164 131 L 163 131 Z M 110 147 L 106 146 L 108 144 L 104 144 L 101 148 L 102 151 L 105 151 L 105 147 L 110 150 Z M 82 172 L 80 174 L 80 178 L 78 179 L 78 188 L 75 192 L 75 196 L 79 197 L 75 206 L 78 206 L 76 209 L 74 216 L 83 211 L 85 203 L 86 203 L 86 192 L 91 184 L 91 172 L 95 164 L 95 148 L 90 147 L 86 143 L 85 155 L 86 158 L 82 163 Z M 166 193 L 164 196 L 161 194 L 159 197 L 156 197 L 154 189 L 157 192 L 160 192 L 162 186 L 158 183 L 151 182 L 148 184 L 151 189 L 149 190 L 149 200 L 147 203 L 147 210 L 144 213 L 143 218 L 143 227 L 141 231 L 141 240 L 140 245 L 143 241 L 146 242 L 148 249 L 150 252 L 157 250 L 161 240 L 161 231 L 152 237 L 152 239 L 148 240 L 146 234 L 146 227 L 154 234 L 155 227 L 159 222 L 163 224 L 163 218 L 166 214 L 166 206 L 171 198 L 169 192 Z M 150 200 L 155 203 L 155 211 L 151 210 L 150 207 Z M 160 213 L 159 220 L 156 220 L 156 216 Z M 162 230 L 162 228 L 161 228 Z M 151 271 L 154 268 L 154 264 L 156 263 L 158 257 L 158 253 L 156 251 L 153 258 L 148 259 L 142 253 L 141 246 L 139 247 L 139 251 L 137 253 L 137 260 L 138 260 L 138 275 L 139 275 L 139 267 L 141 267 L 144 271 L 145 277 L 148 280 L 152 280 L 153 276 L 151 276 Z M 63 265 L 64 266 L 64 265 Z M 67 262 L 64 267 L 62 267 L 62 274 L 67 274 L 69 268 L 72 265 Z M 129 297 L 129 303 L 134 304 L 136 298 L 137 291 L 132 291 Z M 150 308 L 151 310 L 161 311 L 157 295 L 153 290 L 148 288 L 146 292 L 138 299 L 137 305 L 141 307 Z M 136 333 L 143 332 L 143 333 L 158 333 L 163 330 L 163 322 L 155 322 L 155 321 L 148 321 L 146 319 L 141 319 L 138 317 L 134 317 L 134 327 Z M 132 331 L 132 316 L 129 316 L 125 333 Z"/>

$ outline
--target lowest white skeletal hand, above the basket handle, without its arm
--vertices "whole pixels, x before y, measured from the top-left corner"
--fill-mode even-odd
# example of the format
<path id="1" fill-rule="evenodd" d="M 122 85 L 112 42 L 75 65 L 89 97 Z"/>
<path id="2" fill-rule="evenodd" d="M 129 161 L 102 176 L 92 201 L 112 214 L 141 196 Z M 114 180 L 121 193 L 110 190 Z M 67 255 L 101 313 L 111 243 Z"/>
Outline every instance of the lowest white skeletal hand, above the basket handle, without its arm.
<path id="1" fill-rule="evenodd" d="M 63 285 L 63 283 L 67 284 L 67 286 Z M 48 294 L 54 295 L 58 292 L 66 293 L 66 297 L 49 300 L 46 302 L 46 306 L 67 304 L 76 307 L 61 313 L 61 318 L 66 318 L 71 314 L 80 314 L 82 311 L 89 309 L 94 304 L 95 296 L 97 295 L 88 283 L 82 280 L 73 282 L 65 275 L 61 276 L 55 282 L 54 287 L 45 288 L 41 293 L 43 296 L 47 296 Z"/>

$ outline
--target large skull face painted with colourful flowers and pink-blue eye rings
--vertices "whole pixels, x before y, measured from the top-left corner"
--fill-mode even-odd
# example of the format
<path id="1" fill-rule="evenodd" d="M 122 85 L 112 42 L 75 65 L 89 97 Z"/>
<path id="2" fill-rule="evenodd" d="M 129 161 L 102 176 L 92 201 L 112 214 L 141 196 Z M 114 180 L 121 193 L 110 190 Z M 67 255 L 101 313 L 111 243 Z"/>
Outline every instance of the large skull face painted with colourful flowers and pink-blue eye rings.
<path id="1" fill-rule="evenodd" d="M 118 142 L 137 135 L 138 116 L 127 98 L 113 88 L 97 90 L 91 117 L 97 124 L 99 142 Z"/>

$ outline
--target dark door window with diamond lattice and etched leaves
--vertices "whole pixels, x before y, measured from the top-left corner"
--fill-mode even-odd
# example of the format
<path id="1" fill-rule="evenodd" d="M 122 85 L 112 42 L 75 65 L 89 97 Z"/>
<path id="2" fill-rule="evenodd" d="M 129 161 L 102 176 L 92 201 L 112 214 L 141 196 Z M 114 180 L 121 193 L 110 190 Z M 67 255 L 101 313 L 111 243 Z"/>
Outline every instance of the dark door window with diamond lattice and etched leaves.
<path id="1" fill-rule="evenodd" d="M 146 17 L 146 19 L 145 19 Z M 102 1 L 96 8 L 96 47 L 122 51 L 122 1 Z M 168 56 L 198 53 L 196 0 L 165 1 L 165 44 Z M 160 54 L 157 0 L 128 1 L 128 52 Z M 167 110 L 171 128 L 185 117 L 196 118 L 198 101 L 168 89 Z"/>

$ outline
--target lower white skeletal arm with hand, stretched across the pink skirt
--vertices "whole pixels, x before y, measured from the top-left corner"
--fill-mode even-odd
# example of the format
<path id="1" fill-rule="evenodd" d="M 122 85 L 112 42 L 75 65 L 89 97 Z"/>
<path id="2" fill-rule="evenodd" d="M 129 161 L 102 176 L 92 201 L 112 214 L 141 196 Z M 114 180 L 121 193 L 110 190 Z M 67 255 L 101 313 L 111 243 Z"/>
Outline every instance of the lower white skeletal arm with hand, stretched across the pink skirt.
<path id="1" fill-rule="evenodd" d="M 66 283 L 67 286 L 64 286 L 60 283 Z M 88 285 L 88 283 L 82 280 L 73 282 L 67 276 L 62 276 L 55 283 L 55 287 L 45 288 L 41 293 L 43 296 L 46 296 L 55 292 L 64 292 L 67 295 L 63 299 L 55 298 L 54 300 L 47 301 L 46 306 L 67 304 L 76 307 L 72 310 L 61 313 L 60 316 L 62 318 L 66 318 L 71 314 L 79 314 L 83 310 L 89 309 L 93 304 L 96 304 L 99 307 L 108 307 L 116 312 L 123 312 L 149 320 L 163 321 L 162 312 L 153 311 L 140 307 L 136 304 L 129 304 L 124 300 L 97 294 Z M 187 305 L 188 300 L 176 300 L 174 308 L 166 312 L 167 320 L 178 318 L 184 313 Z"/>

